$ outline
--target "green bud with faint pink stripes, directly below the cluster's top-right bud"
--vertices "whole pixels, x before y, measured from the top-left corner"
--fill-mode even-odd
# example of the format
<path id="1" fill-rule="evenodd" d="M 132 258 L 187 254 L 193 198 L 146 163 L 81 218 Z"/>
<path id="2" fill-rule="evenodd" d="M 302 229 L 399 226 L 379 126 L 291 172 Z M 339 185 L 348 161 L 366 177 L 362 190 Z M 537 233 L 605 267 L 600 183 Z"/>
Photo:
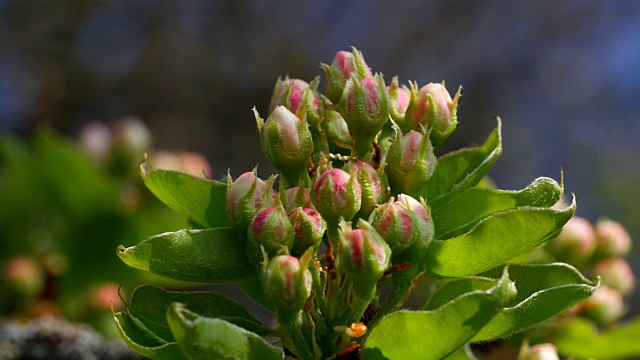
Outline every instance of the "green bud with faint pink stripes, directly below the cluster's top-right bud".
<path id="1" fill-rule="evenodd" d="M 392 193 L 416 195 L 436 168 L 437 159 L 428 137 L 417 131 L 402 135 L 389 149 L 386 173 Z"/>

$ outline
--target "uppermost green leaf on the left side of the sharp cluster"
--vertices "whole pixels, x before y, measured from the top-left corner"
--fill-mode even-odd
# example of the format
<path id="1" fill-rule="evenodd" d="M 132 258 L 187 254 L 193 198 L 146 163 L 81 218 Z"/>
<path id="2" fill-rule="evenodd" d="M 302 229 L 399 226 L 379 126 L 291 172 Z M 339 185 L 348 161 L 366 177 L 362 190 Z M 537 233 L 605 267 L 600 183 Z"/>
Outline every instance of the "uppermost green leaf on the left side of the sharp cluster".
<path id="1" fill-rule="evenodd" d="M 225 210 L 226 184 L 179 171 L 147 172 L 144 162 L 140 165 L 140 174 L 158 199 L 194 225 L 203 228 L 231 226 Z"/>

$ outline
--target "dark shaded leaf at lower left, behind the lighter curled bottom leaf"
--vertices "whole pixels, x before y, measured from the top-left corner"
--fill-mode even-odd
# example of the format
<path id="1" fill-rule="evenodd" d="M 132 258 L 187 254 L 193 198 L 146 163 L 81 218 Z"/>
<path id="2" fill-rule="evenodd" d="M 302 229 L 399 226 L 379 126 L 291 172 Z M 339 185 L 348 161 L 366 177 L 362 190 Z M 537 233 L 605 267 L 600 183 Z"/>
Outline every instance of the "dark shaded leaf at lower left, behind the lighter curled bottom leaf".
<path id="1" fill-rule="evenodd" d="M 129 313 L 140 319 L 154 334 L 166 341 L 175 341 L 169 324 L 167 309 L 174 302 L 189 304 L 189 308 L 202 316 L 221 318 L 261 336 L 274 335 L 274 330 L 255 317 L 249 310 L 228 297 L 210 291 L 167 291 L 153 285 L 137 287 L 129 301 Z"/>

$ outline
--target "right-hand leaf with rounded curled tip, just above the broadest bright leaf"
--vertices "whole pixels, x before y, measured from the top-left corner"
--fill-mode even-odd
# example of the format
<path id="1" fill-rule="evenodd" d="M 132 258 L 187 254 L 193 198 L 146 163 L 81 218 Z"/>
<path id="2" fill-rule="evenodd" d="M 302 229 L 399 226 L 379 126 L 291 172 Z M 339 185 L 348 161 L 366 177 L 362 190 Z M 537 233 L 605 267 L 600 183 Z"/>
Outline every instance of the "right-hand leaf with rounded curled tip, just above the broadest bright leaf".
<path id="1" fill-rule="evenodd" d="M 435 239 L 462 235 L 480 220 L 522 206 L 550 207 L 562 197 L 562 187 L 553 179 L 538 178 L 520 191 L 471 188 L 449 203 L 432 208 Z"/>

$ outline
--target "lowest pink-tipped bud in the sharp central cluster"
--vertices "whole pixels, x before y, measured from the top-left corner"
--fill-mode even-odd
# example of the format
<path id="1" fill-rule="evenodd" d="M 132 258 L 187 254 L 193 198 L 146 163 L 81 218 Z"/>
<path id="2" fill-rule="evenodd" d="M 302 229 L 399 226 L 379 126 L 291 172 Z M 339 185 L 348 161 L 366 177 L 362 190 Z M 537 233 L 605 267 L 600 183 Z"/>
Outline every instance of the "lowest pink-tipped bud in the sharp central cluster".
<path id="1" fill-rule="evenodd" d="M 269 262 L 262 285 L 279 312 L 299 311 L 311 295 L 311 272 L 306 265 L 289 255 L 276 256 Z"/>

